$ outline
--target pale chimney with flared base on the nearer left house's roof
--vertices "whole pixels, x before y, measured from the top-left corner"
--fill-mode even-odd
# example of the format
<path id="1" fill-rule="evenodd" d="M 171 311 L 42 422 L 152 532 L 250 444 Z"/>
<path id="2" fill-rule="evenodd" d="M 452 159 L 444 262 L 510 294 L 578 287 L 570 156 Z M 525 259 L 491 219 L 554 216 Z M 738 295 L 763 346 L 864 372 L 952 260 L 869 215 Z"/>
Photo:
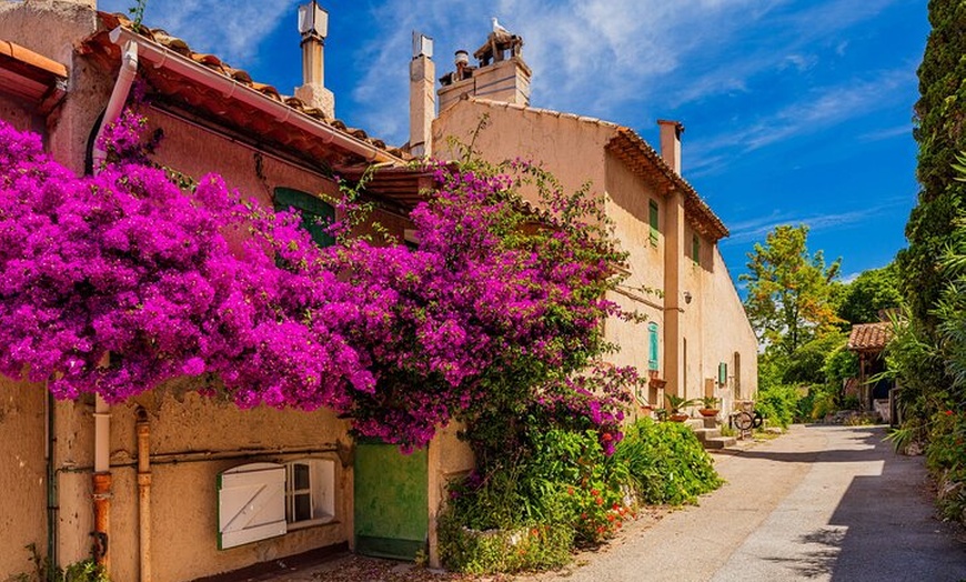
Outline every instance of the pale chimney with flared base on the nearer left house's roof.
<path id="1" fill-rule="evenodd" d="M 335 96 L 325 89 L 325 37 L 329 36 L 329 12 L 315 0 L 299 7 L 299 33 L 302 34 L 302 87 L 295 97 L 335 118 Z"/>

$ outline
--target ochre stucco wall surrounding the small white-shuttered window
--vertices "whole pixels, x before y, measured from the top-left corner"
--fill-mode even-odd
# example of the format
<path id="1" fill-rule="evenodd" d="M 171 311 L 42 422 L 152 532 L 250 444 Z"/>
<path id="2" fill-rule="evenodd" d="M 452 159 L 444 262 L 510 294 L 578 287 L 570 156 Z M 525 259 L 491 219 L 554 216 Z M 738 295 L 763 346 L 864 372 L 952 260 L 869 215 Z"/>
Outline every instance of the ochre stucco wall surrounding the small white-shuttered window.
<path id="1" fill-rule="evenodd" d="M 181 389 L 193 388 L 183 379 Z M 112 408 L 111 570 L 115 580 L 138 575 L 135 409 L 151 428 L 152 572 L 154 580 L 191 580 L 348 541 L 352 524 L 352 471 L 339 448 L 350 443 L 348 421 L 328 410 L 301 412 L 260 407 L 239 410 L 187 392 L 159 389 Z M 218 550 L 217 475 L 252 462 L 335 460 L 335 521 L 281 538 Z M 80 506 L 89 502 L 76 500 Z"/>

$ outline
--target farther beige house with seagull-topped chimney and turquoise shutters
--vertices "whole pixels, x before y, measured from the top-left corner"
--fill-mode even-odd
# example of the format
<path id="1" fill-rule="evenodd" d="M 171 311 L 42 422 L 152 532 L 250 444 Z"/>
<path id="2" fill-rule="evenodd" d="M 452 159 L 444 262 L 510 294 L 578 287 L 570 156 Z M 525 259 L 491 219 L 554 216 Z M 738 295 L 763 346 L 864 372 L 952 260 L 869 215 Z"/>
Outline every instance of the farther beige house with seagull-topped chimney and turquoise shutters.
<path id="1" fill-rule="evenodd" d="M 682 175 L 684 127 L 658 121 L 658 153 L 631 128 L 531 107 L 523 39 L 506 31 L 487 37 L 474 52 L 476 64 L 457 51 L 439 90 L 431 41 L 416 36 L 413 46 L 410 143 L 419 151 L 452 157 L 449 138 L 472 140 L 491 162 L 531 160 L 567 191 L 590 181 L 604 197 L 630 252 L 630 277 L 611 299 L 648 319 L 643 325 L 611 319 L 606 339 L 621 347 L 614 363 L 650 372 L 640 397 L 655 408 L 664 405 L 665 391 L 715 397 L 726 411 L 754 399 L 757 341 L 718 251 L 727 228 Z"/>

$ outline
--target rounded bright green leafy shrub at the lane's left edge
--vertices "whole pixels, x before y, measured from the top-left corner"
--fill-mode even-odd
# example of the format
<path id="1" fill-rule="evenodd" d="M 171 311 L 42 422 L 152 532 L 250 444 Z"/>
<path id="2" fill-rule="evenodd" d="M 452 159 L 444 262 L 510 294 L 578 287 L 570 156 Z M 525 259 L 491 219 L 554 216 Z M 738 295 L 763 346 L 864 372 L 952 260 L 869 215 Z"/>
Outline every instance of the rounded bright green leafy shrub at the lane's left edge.
<path id="1" fill-rule="evenodd" d="M 643 503 L 694 503 L 723 483 L 694 432 L 676 422 L 638 420 L 627 428 L 611 462 L 626 464 Z"/>

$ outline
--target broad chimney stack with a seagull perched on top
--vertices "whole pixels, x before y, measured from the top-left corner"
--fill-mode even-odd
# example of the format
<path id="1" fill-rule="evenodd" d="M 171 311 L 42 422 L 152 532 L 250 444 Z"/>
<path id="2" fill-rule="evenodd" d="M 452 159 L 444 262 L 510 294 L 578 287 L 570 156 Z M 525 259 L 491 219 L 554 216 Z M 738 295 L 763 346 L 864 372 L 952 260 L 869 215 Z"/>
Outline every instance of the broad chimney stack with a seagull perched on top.
<path id="1" fill-rule="evenodd" d="M 456 52 L 456 70 L 440 79 L 440 111 L 466 96 L 529 106 L 533 73 L 522 50 L 523 38 L 494 22 L 486 42 L 473 53 L 479 67 L 471 66 L 470 54 L 461 50 Z"/>

